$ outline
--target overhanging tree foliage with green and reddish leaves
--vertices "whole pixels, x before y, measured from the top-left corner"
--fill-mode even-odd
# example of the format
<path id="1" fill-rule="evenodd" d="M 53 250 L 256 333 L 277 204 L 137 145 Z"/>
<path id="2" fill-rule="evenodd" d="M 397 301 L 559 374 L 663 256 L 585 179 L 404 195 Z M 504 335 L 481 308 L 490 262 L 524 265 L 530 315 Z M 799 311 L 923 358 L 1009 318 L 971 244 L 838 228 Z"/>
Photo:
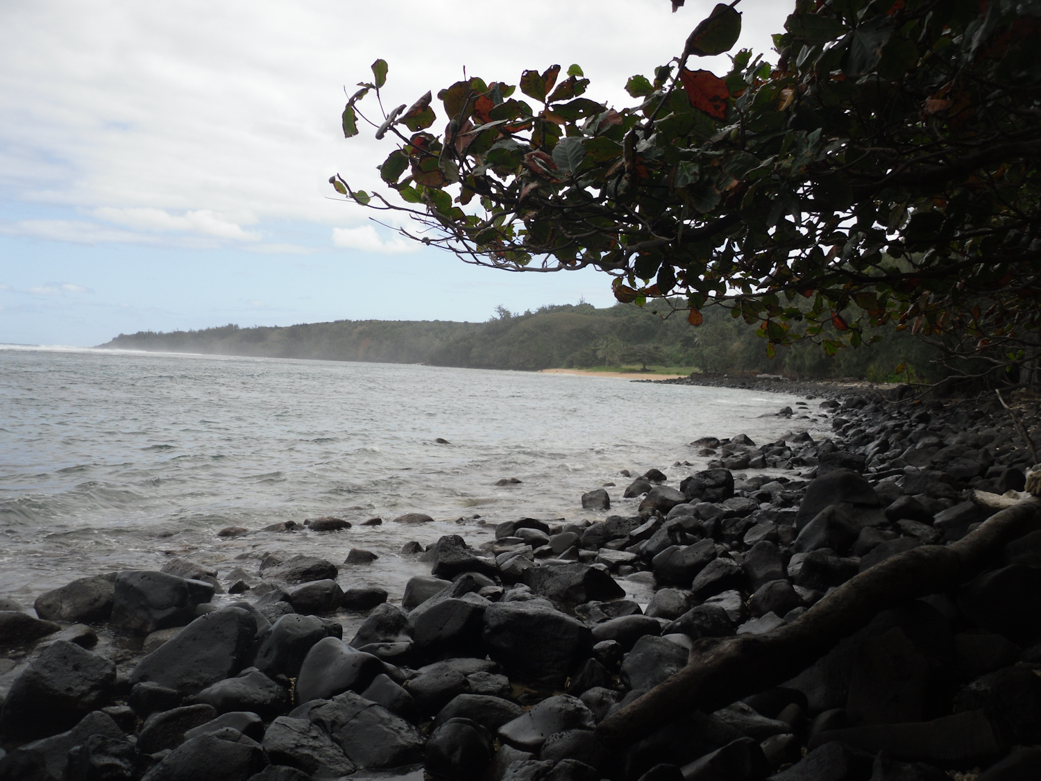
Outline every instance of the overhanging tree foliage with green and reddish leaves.
<path id="1" fill-rule="evenodd" d="M 797 0 L 776 65 L 688 67 L 735 46 L 738 1 L 630 78 L 626 107 L 552 66 L 370 120 L 377 60 L 344 131 L 360 118 L 396 140 L 380 168 L 396 194 L 330 181 L 467 262 L 594 267 L 621 302 L 680 297 L 692 325 L 729 307 L 769 354 L 806 338 L 834 354 L 891 324 L 984 366 L 1036 358 L 1041 0 Z"/>

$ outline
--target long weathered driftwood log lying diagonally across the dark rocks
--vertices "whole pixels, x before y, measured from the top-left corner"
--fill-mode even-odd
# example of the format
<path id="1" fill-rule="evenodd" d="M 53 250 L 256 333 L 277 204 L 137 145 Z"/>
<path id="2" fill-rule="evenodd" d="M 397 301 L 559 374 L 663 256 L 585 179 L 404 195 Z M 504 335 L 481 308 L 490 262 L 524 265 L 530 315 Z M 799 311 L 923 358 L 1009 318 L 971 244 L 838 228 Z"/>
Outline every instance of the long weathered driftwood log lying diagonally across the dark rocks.
<path id="1" fill-rule="evenodd" d="M 683 670 L 605 719 L 598 734 L 632 744 L 684 713 L 726 707 L 793 678 L 882 610 L 968 581 L 1007 543 L 1041 526 L 1041 472 L 1030 475 L 1026 490 L 1018 501 L 989 495 L 991 506 L 1011 505 L 957 543 L 915 548 L 860 573 L 791 624 L 694 640 Z"/>

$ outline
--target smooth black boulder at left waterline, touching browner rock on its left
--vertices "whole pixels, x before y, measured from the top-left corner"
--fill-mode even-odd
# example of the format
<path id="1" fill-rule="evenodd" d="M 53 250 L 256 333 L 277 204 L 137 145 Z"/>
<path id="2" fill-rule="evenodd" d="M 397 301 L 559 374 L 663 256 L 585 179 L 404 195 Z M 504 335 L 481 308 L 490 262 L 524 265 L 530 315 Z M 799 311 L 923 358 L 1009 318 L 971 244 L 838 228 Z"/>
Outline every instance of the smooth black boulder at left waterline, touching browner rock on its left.
<path id="1" fill-rule="evenodd" d="M 196 605 L 209 602 L 213 586 L 146 570 L 116 577 L 110 623 L 117 629 L 149 634 L 182 627 L 196 616 Z"/>

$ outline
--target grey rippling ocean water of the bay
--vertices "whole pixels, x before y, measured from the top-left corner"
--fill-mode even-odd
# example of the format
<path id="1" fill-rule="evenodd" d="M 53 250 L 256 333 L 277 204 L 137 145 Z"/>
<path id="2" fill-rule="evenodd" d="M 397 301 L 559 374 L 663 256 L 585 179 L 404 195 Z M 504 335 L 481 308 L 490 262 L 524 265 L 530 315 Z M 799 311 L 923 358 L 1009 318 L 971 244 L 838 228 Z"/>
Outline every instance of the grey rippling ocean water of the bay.
<path id="1" fill-rule="evenodd" d="M 479 545 L 517 518 L 612 512 L 634 475 L 677 485 L 704 435 L 772 442 L 823 422 L 773 413 L 802 397 L 625 379 L 387 363 L 0 346 L 0 595 L 24 604 L 75 577 L 158 569 L 172 555 L 222 574 L 269 552 L 335 563 L 340 581 L 400 596 L 426 564 L 409 539 Z M 441 437 L 449 442 L 440 445 Z M 690 467 L 672 467 L 689 461 Z M 522 482 L 497 486 L 500 478 Z M 405 512 L 434 523 L 397 524 Z M 261 529 L 337 515 L 340 532 Z M 360 522 L 380 517 L 381 526 Z M 230 539 L 218 532 L 242 526 Z"/>

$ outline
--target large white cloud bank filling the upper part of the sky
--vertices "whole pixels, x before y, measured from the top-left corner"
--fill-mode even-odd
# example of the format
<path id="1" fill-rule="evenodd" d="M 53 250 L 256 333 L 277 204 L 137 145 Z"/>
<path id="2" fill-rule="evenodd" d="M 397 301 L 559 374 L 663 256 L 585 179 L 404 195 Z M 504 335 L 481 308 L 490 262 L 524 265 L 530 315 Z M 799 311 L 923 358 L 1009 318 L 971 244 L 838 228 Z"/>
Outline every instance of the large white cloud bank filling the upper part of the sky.
<path id="1" fill-rule="evenodd" d="M 523 69 L 553 62 L 582 65 L 590 97 L 632 104 L 626 79 L 679 54 L 710 6 L 672 15 L 667 0 L 572 0 L 562 14 L 557 0 L 530 0 L 518 14 L 488 0 L 475 14 L 443 0 L 432 15 L 426 0 L 0 3 L 0 197 L 84 209 L 93 227 L 43 230 L 79 244 L 167 233 L 182 247 L 245 247 L 279 242 L 279 224 L 350 224 L 364 211 L 329 199 L 327 179 L 338 172 L 385 190 L 375 167 L 390 145 L 339 130 L 345 84 L 353 91 L 377 57 L 390 66 L 388 106 L 436 92 L 464 67 L 516 83 Z M 739 7 L 739 44 L 768 51 L 791 1 Z M 489 39 L 497 18 L 510 23 Z M 409 19 L 423 24 L 400 23 Z M 720 72 L 728 61 L 699 66 Z M 373 96 L 361 107 L 375 111 Z M 349 241 L 370 233 L 357 235 Z"/>

